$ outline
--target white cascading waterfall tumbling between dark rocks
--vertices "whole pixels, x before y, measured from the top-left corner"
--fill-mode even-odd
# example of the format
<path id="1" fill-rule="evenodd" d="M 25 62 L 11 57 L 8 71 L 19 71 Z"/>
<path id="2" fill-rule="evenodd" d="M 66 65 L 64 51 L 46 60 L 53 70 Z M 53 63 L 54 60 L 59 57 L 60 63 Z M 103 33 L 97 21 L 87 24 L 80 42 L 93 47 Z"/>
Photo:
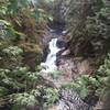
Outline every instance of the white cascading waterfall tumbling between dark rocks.
<path id="1" fill-rule="evenodd" d="M 47 55 L 46 62 L 41 63 L 41 66 L 45 67 L 45 69 L 42 70 L 44 73 L 57 70 L 56 54 L 61 51 L 61 48 L 57 47 L 56 43 L 57 38 L 52 38 L 48 45 L 50 54 Z"/>

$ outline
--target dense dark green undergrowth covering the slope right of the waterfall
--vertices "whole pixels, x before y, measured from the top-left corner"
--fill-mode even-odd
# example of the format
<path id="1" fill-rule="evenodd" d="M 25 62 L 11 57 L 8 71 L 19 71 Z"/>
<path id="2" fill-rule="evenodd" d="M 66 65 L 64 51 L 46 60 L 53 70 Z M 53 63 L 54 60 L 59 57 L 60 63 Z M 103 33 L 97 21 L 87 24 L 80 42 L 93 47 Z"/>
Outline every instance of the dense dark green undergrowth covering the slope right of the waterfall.
<path id="1" fill-rule="evenodd" d="M 103 110 L 109 110 L 110 2 L 68 0 L 68 2 L 64 1 L 63 6 L 66 9 L 65 21 L 73 56 L 92 58 L 96 67 L 95 72 L 79 77 L 67 87 L 76 88 L 81 97 L 85 97 L 91 86 L 91 90 L 95 89 L 96 95 L 101 97 L 101 100 L 106 100 Z"/>

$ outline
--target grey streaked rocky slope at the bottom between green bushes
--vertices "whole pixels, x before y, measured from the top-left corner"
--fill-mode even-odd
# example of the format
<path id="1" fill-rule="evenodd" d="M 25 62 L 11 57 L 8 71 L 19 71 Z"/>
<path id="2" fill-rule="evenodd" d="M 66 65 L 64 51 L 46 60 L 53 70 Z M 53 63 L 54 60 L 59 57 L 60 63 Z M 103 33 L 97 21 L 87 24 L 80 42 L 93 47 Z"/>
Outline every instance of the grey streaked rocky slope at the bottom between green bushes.
<path id="1" fill-rule="evenodd" d="M 62 99 L 57 110 L 92 110 L 85 103 L 78 94 L 73 89 L 62 90 Z"/>

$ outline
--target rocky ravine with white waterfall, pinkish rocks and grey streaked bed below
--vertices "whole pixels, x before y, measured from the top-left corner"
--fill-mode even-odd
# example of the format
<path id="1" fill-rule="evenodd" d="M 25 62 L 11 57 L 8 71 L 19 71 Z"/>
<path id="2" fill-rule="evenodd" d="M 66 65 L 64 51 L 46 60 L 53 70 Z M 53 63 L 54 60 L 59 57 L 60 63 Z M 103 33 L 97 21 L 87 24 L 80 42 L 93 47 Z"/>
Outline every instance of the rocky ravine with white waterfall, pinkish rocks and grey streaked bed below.
<path id="1" fill-rule="evenodd" d="M 73 56 L 69 56 L 69 50 L 65 50 L 66 41 L 64 41 L 62 33 L 51 30 L 48 34 L 48 55 L 46 61 L 41 63 L 41 66 L 43 66 L 41 75 L 54 84 L 54 88 L 59 90 L 63 85 L 70 82 L 79 74 L 89 69 L 89 66 L 87 61 L 84 61 L 84 64 L 80 63 L 80 68 L 77 68 L 79 64 L 75 63 Z M 87 68 L 84 67 L 82 69 L 81 65 L 87 65 Z M 61 99 L 48 110 L 92 110 L 89 105 L 81 100 L 75 90 L 61 89 L 59 94 Z"/>

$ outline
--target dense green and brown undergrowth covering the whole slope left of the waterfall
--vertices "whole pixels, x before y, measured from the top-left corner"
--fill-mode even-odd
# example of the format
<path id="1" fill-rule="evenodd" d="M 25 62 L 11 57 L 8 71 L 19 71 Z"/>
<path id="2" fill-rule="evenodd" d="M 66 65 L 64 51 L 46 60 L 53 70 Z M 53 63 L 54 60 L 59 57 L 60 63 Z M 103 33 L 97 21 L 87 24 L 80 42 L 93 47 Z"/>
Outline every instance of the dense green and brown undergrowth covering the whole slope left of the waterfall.
<path id="1" fill-rule="evenodd" d="M 51 106 L 57 90 L 40 84 L 38 64 L 52 1 L 0 1 L 0 109 L 38 109 Z M 44 8 L 44 9 L 43 9 Z"/>

